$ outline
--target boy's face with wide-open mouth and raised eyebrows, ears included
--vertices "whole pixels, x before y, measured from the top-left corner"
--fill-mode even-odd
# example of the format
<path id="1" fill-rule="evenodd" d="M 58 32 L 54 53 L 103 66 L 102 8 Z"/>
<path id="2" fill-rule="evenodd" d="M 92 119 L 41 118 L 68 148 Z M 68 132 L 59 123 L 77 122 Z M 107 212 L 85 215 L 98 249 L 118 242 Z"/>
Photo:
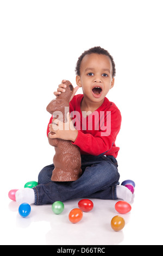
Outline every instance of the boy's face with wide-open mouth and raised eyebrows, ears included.
<path id="1" fill-rule="evenodd" d="M 76 77 L 79 87 L 82 87 L 85 99 L 101 102 L 114 86 L 112 64 L 108 56 L 103 54 L 87 54 L 80 65 L 80 76 Z"/>

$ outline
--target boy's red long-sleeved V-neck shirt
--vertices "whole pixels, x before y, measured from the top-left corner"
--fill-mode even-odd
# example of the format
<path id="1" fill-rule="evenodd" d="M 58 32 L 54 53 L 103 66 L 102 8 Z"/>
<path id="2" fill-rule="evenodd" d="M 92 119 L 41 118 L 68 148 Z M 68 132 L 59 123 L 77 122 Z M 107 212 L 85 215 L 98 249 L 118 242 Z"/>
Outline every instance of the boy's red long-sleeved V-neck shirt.
<path id="1" fill-rule="evenodd" d="M 70 102 L 70 113 L 73 119 L 74 127 L 78 130 L 78 136 L 73 144 L 80 148 L 81 155 L 100 154 L 112 155 L 117 157 L 119 147 L 116 147 L 115 141 L 121 128 L 121 112 L 106 97 L 103 104 L 95 112 L 83 117 L 80 109 L 83 94 L 73 97 Z M 52 123 L 51 117 L 49 124 Z M 47 135 L 49 126 L 47 128 Z"/>

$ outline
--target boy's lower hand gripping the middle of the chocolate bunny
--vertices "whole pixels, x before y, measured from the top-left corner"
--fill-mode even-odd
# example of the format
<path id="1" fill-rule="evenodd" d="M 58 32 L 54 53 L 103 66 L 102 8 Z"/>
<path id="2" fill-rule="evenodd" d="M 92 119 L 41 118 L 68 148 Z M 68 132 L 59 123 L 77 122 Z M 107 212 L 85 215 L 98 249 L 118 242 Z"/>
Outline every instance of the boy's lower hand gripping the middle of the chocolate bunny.
<path id="1" fill-rule="evenodd" d="M 53 123 L 49 124 L 49 131 L 54 132 L 55 134 L 49 133 L 49 138 L 55 139 L 65 139 L 66 141 L 76 141 L 78 136 L 78 130 L 76 130 L 73 126 L 70 113 L 67 113 L 67 122 L 63 123 L 58 119 L 53 119 Z"/>

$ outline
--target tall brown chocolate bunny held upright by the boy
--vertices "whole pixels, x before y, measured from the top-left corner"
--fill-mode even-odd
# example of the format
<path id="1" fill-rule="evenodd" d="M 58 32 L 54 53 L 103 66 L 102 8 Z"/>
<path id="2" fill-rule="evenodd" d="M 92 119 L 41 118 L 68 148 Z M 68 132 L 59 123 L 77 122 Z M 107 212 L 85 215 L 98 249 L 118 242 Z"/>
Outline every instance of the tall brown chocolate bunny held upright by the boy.
<path id="1" fill-rule="evenodd" d="M 66 115 L 69 110 L 69 102 L 73 93 L 73 86 L 66 81 L 65 93 L 61 93 L 57 99 L 52 100 L 47 106 L 47 111 L 53 114 L 54 118 L 66 122 Z M 49 132 L 54 134 L 53 132 Z M 80 149 L 71 141 L 59 138 L 49 138 L 48 141 L 55 148 L 53 157 L 54 170 L 52 181 L 75 181 L 82 175 Z"/>

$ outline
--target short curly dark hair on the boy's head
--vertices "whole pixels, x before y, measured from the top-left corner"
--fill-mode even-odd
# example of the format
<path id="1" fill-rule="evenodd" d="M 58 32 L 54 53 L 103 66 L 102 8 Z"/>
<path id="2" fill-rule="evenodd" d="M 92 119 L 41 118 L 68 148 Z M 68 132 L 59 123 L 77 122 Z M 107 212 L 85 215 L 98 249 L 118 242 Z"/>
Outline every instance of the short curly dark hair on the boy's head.
<path id="1" fill-rule="evenodd" d="M 100 46 L 95 46 L 93 48 L 90 48 L 89 50 L 86 50 L 85 52 L 82 53 L 82 55 L 78 58 L 77 65 L 76 65 L 76 75 L 80 76 L 80 65 L 82 63 L 82 59 L 84 58 L 85 55 L 91 54 L 91 53 L 97 53 L 97 54 L 103 54 L 106 55 L 110 58 L 111 63 L 112 63 L 112 77 L 115 77 L 116 75 L 116 69 L 115 69 L 115 62 L 112 56 L 108 51 L 106 51 L 104 48 L 101 48 Z"/>

